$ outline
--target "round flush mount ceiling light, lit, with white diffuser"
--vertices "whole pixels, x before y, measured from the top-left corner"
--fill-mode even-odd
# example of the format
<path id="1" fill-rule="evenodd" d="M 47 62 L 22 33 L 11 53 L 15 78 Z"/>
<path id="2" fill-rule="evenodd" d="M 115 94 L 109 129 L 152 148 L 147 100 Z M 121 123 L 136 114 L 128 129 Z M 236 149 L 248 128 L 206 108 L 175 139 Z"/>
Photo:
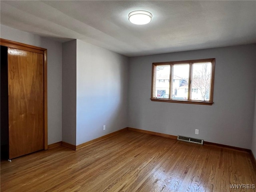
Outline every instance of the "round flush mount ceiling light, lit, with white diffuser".
<path id="1" fill-rule="evenodd" d="M 129 21 L 136 25 L 148 24 L 152 19 L 152 14 L 148 11 L 133 11 L 130 12 Z"/>

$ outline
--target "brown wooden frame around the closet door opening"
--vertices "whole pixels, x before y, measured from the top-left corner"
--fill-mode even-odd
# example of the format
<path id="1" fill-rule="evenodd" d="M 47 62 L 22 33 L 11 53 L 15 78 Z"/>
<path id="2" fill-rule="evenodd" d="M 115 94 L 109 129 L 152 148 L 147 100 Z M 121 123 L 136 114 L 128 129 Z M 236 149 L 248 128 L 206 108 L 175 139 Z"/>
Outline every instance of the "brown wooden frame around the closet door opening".
<path id="1" fill-rule="evenodd" d="M 47 119 L 47 49 L 40 48 L 24 43 L 19 43 L 15 41 L 10 41 L 6 39 L 0 38 L 0 44 L 2 46 L 10 47 L 10 48 L 16 48 L 20 50 L 26 50 L 31 52 L 36 52 L 43 54 L 44 58 L 44 150 L 48 149 L 48 119 Z"/>

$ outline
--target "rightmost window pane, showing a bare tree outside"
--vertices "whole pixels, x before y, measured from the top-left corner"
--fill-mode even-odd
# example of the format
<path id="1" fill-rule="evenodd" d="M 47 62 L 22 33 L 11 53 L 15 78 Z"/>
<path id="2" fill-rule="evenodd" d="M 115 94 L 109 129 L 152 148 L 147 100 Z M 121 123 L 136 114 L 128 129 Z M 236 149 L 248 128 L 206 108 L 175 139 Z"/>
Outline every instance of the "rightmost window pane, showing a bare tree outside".
<path id="1" fill-rule="evenodd" d="M 211 73 L 211 62 L 193 64 L 191 100 L 210 100 Z"/>

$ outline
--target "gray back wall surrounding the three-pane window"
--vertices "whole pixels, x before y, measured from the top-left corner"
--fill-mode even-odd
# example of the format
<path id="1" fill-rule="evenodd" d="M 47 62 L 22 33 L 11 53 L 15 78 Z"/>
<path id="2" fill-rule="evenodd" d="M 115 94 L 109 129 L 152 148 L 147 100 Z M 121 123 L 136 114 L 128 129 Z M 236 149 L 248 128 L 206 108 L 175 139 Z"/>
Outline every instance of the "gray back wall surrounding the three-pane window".
<path id="1" fill-rule="evenodd" d="M 128 126 L 250 149 L 255 52 L 256 44 L 250 44 L 130 58 Z M 152 62 L 204 58 L 216 58 L 212 106 L 150 100 Z"/>

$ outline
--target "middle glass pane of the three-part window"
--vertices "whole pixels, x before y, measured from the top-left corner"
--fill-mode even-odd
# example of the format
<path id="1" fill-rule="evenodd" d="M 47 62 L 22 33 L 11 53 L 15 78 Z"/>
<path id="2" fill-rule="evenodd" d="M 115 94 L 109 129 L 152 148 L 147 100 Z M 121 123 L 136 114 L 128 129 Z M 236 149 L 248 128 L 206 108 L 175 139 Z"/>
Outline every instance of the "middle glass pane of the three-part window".
<path id="1" fill-rule="evenodd" d="M 188 100 L 189 64 L 173 65 L 172 99 Z"/>

